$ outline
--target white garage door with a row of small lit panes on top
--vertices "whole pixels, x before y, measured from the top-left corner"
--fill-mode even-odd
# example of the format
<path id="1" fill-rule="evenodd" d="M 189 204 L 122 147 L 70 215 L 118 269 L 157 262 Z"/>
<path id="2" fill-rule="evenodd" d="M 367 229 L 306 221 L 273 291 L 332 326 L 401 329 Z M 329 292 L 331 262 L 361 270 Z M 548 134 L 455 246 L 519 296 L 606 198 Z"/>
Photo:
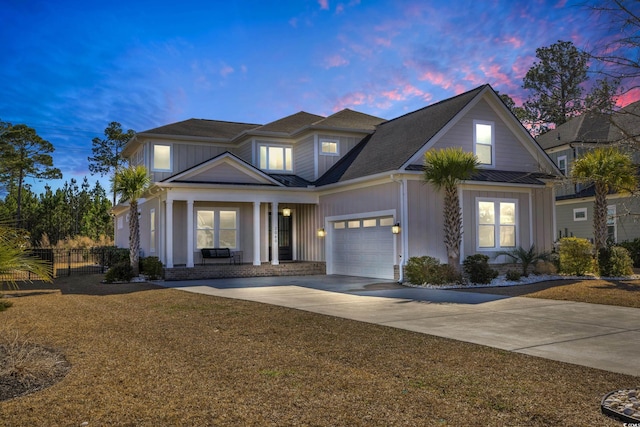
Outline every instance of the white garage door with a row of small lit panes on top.
<path id="1" fill-rule="evenodd" d="M 392 217 L 333 222 L 332 273 L 393 280 L 392 225 Z"/>

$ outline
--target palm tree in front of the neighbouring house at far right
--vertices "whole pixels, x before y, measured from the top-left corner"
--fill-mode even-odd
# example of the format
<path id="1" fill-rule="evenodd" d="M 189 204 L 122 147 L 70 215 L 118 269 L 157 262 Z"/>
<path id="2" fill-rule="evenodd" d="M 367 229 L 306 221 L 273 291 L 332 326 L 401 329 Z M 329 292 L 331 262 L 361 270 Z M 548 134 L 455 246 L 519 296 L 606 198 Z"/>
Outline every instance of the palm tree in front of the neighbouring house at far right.
<path id="1" fill-rule="evenodd" d="M 597 147 L 573 163 L 571 178 L 593 182 L 593 237 L 596 253 L 607 243 L 607 194 L 630 193 L 638 187 L 636 167 L 631 156 L 616 147 Z"/>

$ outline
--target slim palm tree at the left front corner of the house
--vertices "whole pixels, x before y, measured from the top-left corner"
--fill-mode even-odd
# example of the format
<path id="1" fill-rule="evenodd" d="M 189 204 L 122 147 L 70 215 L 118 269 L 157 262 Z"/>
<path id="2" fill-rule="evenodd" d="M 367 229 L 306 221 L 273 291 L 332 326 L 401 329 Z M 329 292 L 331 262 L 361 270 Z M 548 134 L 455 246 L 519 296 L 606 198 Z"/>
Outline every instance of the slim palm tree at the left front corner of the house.
<path id="1" fill-rule="evenodd" d="M 113 190 L 120 194 L 120 203 L 129 202 L 129 262 L 134 275 L 138 275 L 140 258 L 140 222 L 138 199 L 149 188 L 151 179 L 144 166 L 130 166 L 116 172 Z"/>

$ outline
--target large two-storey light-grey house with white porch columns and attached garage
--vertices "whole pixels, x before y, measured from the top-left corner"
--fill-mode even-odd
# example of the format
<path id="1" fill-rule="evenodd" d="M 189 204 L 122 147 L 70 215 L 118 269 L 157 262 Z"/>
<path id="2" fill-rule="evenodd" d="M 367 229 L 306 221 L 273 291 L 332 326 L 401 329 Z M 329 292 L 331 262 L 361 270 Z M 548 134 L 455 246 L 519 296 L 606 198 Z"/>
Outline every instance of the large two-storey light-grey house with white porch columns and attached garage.
<path id="1" fill-rule="evenodd" d="M 190 119 L 138 133 L 123 155 L 152 175 L 141 248 L 169 273 L 201 277 L 200 249 L 228 247 L 255 269 L 312 261 L 327 274 L 402 280 L 409 257 L 447 260 L 443 194 L 424 183 L 423 162 L 451 146 L 483 163 L 460 188 L 461 261 L 551 249 L 560 171 L 489 85 L 388 121 L 348 109 L 266 125 Z M 114 214 L 127 247 L 126 206 Z"/>

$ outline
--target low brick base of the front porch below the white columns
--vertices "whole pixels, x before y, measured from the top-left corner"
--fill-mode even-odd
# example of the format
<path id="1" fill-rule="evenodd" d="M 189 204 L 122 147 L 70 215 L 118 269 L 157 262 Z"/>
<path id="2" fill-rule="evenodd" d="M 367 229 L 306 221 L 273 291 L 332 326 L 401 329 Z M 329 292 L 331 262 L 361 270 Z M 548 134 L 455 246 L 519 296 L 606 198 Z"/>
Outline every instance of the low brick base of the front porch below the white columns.
<path id="1" fill-rule="evenodd" d="M 324 262 L 282 262 L 271 264 L 263 262 L 253 264 L 205 264 L 187 268 L 174 266 L 164 269 L 165 280 L 195 280 L 195 279 L 226 279 L 233 277 L 264 277 L 264 276 L 309 276 L 326 274 Z"/>

